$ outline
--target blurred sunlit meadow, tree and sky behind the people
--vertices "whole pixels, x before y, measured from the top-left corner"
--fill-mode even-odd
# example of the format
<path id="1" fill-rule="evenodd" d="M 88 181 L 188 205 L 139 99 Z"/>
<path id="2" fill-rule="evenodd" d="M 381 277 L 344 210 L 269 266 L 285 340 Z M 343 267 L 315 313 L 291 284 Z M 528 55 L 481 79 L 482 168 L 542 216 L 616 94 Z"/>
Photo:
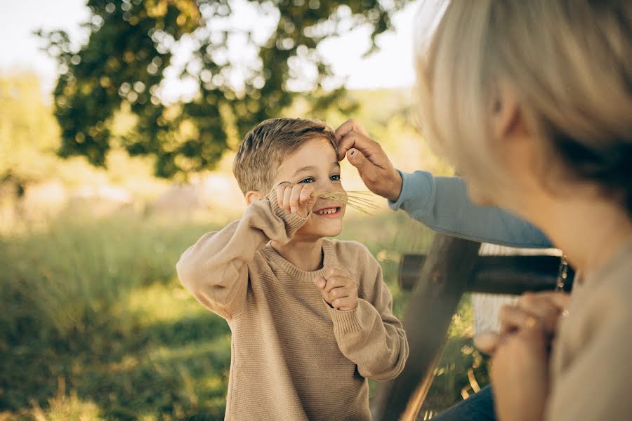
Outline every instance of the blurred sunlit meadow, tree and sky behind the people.
<path id="1" fill-rule="evenodd" d="M 416 125 L 409 0 L 0 0 L 0 420 L 221 420 L 230 330 L 180 253 L 239 218 L 259 121 L 362 122 L 398 168 L 448 175 Z M 348 189 L 365 189 L 343 163 Z M 432 234 L 348 212 L 397 286 Z M 487 383 L 463 300 L 421 417 Z M 374 385 L 371 384 L 371 389 Z M 423 419 L 423 418 L 420 418 Z"/>

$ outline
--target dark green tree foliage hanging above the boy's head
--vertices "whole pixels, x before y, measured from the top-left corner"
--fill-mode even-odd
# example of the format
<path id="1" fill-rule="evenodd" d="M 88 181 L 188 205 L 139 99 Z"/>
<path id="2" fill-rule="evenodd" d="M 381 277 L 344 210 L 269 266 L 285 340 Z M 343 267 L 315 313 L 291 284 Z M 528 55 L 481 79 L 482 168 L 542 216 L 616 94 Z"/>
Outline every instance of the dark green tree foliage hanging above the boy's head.
<path id="1" fill-rule="evenodd" d="M 272 0 L 250 2 L 258 15 L 277 21 L 267 40 L 254 29 L 240 32 L 225 22 L 234 16 L 231 0 L 88 0 L 89 39 L 73 51 L 62 31 L 40 32 L 60 76 L 54 91 L 55 116 L 62 132 L 60 156 L 83 155 L 105 165 L 107 151 L 119 142 L 132 155 L 156 156 L 162 177 L 212 168 L 229 147 L 230 133 L 243 135 L 258 121 L 277 116 L 300 95 L 288 87 L 307 83 L 315 109 L 353 108 L 342 81 L 317 53 L 320 41 L 358 25 L 375 37 L 390 29 L 390 16 L 409 0 Z M 388 6 L 387 6 L 388 5 Z M 227 60 L 235 40 L 247 39 L 252 60 Z M 174 46 L 195 45 L 182 76 L 199 86 L 189 102 L 165 105 L 157 95 Z M 240 44 L 239 48 L 244 48 Z M 305 68 L 314 77 L 305 81 Z M 241 76 L 235 83 L 235 74 Z M 136 127 L 111 133 L 112 115 L 128 102 Z"/>

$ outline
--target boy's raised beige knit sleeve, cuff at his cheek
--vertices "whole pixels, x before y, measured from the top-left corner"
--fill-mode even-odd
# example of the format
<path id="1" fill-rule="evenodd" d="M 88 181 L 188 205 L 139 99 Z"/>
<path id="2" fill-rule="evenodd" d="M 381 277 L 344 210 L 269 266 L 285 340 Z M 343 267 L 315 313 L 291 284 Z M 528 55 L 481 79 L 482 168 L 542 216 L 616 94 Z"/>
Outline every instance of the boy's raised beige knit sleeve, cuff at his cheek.
<path id="1" fill-rule="evenodd" d="M 230 320 L 246 302 L 249 264 L 257 250 L 270 240 L 288 243 L 308 219 L 279 208 L 272 191 L 251 203 L 240 220 L 188 248 L 176 265 L 178 278 L 204 307 Z"/>

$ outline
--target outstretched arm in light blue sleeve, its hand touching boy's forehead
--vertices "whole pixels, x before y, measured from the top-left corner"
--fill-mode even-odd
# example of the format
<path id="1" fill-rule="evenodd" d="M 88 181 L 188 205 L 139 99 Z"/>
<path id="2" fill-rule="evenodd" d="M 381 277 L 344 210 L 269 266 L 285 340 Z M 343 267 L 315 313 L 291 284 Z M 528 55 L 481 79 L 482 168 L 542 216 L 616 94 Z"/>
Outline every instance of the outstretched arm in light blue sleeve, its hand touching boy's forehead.
<path id="1" fill-rule="evenodd" d="M 336 140 L 338 159 L 346 156 L 371 192 L 437 232 L 504 246 L 552 247 L 551 241 L 528 222 L 499 208 L 470 202 L 461 178 L 397 171 L 381 145 L 353 119 L 336 129 Z"/>

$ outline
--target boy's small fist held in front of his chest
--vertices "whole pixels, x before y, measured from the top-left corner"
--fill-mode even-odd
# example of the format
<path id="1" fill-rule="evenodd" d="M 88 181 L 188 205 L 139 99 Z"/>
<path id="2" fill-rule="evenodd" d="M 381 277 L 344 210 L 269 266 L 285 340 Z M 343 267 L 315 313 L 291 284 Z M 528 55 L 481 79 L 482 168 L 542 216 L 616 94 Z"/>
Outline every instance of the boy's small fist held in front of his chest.
<path id="1" fill-rule="evenodd" d="M 357 284 L 345 269 L 332 267 L 324 278 L 317 276 L 314 282 L 322 298 L 334 309 L 348 311 L 357 307 Z"/>

